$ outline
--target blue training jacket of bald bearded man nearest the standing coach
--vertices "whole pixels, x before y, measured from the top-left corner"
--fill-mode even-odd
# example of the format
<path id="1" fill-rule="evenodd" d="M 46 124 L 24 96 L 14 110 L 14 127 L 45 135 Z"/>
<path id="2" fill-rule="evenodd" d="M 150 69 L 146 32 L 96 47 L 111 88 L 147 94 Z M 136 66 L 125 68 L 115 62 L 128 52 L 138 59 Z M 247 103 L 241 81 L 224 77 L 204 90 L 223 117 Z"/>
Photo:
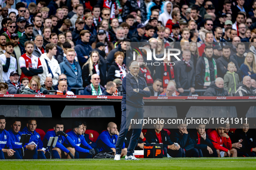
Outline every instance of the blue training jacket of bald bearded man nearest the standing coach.
<path id="1" fill-rule="evenodd" d="M 104 151 L 109 148 L 116 148 L 117 143 L 117 135 L 110 135 L 110 133 L 106 130 L 102 133 L 100 133 L 96 143 L 99 148 L 99 151 Z M 123 142 L 122 149 L 125 148 L 125 144 Z"/>

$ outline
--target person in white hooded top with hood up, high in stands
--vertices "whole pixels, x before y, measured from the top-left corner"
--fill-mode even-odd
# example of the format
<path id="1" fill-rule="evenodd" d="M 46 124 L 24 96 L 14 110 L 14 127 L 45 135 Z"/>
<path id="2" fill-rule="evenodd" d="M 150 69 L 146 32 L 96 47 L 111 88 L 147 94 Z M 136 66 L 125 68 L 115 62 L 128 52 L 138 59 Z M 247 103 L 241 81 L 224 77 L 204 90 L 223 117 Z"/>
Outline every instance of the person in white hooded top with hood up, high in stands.
<path id="1" fill-rule="evenodd" d="M 162 22 L 162 25 L 165 26 L 169 19 L 173 19 L 172 17 L 172 3 L 170 1 L 166 1 L 164 5 L 164 11 L 159 15 L 158 20 Z M 177 16 L 177 15 L 175 15 Z"/>

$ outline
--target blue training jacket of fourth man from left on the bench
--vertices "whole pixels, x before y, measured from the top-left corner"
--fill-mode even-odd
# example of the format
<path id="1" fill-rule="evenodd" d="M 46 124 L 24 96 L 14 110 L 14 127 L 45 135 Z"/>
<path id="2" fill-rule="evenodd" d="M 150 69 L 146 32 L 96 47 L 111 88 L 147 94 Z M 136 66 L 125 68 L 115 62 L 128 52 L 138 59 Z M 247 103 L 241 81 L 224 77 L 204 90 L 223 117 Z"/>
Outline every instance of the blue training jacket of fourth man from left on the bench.
<path id="1" fill-rule="evenodd" d="M 56 137 L 56 136 L 57 135 L 56 135 L 54 130 L 47 132 L 45 134 L 44 139 L 43 139 L 43 146 L 44 146 L 44 148 L 48 147 L 47 144 L 49 142 L 50 137 Z M 73 142 L 72 139 L 69 136 L 67 138 L 65 138 L 65 136 L 58 136 L 58 142 L 56 143 L 55 147 L 56 148 L 60 148 L 60 150 L 68 153 L 69 150 L 67 148 L 65 148 L 65 146 L 63 146 L 65 141 L 67 141 L 67 143 L 69 142 L 72 145 L 73 148 L 75 147 L 75 142 Z"/>

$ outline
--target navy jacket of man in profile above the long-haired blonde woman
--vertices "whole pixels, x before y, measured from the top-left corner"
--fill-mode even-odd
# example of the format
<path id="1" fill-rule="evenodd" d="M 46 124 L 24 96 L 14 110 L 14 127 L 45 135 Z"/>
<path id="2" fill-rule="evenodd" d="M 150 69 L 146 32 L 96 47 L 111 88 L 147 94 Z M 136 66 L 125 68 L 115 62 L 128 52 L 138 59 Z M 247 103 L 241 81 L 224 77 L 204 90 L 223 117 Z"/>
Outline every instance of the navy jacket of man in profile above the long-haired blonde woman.
<path id="1" fill-rule="evenodd" d="M 75 45 L 75 51 L 77 52 L 78 61 L 80 66 L 83 66 L 84 63 L 87 62 L 89 55 L 91 53 L 92 47 L 88 42 L 83 42 L 81 39 L 77 41 Z M 84 56 L 88 56 L 88 58 L 84 58 Z"/>

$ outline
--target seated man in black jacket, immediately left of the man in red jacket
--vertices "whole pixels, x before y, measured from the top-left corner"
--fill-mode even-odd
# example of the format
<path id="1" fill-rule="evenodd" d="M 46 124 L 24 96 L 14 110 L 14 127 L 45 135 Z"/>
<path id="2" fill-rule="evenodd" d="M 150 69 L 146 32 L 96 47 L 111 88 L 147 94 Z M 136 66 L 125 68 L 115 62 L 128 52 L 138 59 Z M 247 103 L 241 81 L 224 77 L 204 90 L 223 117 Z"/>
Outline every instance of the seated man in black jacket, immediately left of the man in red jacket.
<path id="1" fill-rule="evenodd" d="M 194 148 L 198 149 L 200 157 L 217 157 L 217 151 L 205 132 L 205 126 L 205 124 L 199 124 L 197 125 L 197 131 L 191 133 L 191 139 L 195 144 Z"/>

